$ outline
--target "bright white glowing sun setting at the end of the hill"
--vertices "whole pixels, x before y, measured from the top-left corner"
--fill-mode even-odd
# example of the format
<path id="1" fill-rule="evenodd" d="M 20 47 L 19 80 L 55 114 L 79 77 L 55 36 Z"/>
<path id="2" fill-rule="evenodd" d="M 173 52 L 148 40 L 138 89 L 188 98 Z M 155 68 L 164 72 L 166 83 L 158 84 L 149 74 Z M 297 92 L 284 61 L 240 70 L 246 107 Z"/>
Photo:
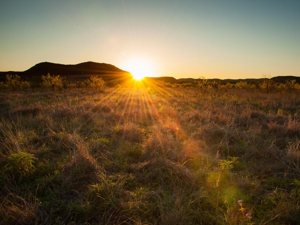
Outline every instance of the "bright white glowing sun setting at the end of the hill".
<path id="1" fill-rule="evenodd" d="M 126 70 L 129 71 L 136 81 L 144 79 L 145 76 L 153 76 L 153 69 L 149 62 L 137 59 L 127 64 Z"/>

